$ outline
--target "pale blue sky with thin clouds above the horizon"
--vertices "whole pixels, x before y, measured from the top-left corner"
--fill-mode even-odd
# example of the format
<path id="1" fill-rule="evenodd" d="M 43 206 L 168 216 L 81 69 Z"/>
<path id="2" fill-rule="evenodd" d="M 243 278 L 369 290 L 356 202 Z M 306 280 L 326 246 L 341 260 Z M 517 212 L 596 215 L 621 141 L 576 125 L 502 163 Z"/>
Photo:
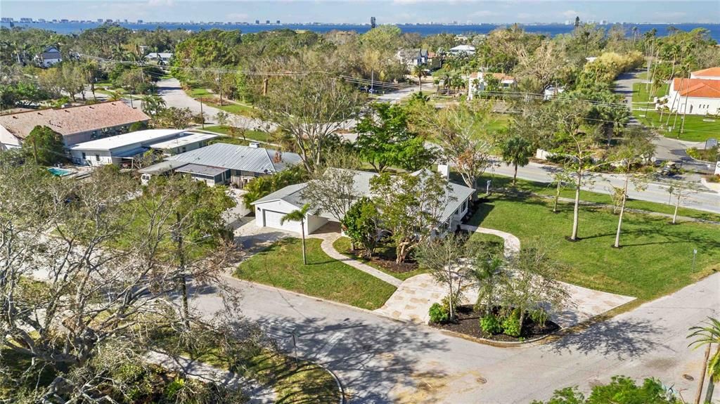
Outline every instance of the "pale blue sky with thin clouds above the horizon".
<path id="1" fill-rule="evenodd" d="M 0 0 L 0 16 L 143 19 L 146 22 L 532 23 L 583 21 L 718 23 L 720 1 L 649 0 Z"/>

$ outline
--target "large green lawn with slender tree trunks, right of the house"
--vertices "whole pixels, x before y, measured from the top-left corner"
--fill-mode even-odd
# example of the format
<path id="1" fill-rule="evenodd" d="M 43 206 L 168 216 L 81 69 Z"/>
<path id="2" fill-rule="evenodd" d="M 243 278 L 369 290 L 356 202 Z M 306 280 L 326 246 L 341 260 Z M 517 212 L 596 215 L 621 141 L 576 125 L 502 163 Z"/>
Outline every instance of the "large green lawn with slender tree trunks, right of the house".
<path id="1" fill-rule="evenodd" d="M 566 237 L 572 230 L 572 203 L 529 196 L 491 196 L 471 224 L 508 231 L 527 244 L 541 240 L 554 257 L 567 265 L 562 280 L 640 301 L 658 298 L 720 270 L 720 226 L 685 222 L 647 214 L 624 216 L 621 249 L 611 247 L 618 216 L 606 208 L 580 208 L 579 242 Z M 693 249 L 698 250 L 693 267 Z"/>

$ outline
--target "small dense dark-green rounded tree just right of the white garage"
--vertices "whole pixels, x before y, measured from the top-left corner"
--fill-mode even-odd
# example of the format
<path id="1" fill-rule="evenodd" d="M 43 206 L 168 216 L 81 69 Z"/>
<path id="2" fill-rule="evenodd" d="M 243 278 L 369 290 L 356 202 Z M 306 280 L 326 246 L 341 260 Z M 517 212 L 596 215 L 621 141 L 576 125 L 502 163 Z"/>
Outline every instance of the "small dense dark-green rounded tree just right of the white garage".
<path id="1" fill-rule="evenodd" d="M 379 216 L 379 211 L 370 198 L 363 197 L 353 203 L 341 221 L 345 234 L 353 244 L 362 246 L 367 258 L 372 257 L 377 246 Z"/>

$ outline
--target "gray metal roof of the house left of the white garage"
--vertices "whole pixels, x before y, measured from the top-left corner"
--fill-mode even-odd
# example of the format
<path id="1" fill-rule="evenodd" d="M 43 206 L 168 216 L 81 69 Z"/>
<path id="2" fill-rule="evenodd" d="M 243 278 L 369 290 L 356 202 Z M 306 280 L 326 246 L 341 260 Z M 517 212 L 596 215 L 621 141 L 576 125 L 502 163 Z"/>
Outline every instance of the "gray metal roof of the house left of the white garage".
<path id="1" fill-rule="evenodd" d="M 168 160 L 271 174 L 300 163 L 300 155 L 262 147 L 215 143 L 168 157 Z"/>

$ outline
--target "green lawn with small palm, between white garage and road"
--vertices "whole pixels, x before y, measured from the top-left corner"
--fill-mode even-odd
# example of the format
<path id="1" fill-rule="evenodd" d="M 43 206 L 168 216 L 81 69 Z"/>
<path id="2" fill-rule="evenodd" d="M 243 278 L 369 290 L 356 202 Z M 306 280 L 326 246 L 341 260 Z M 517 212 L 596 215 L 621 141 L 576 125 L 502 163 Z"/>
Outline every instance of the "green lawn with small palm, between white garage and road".
<path id="1" fill-rule="evenodd" d="M 382 307 L 395 292 L 394 286 L 377 277 L 328 257 L 320 242 L 306 240 L 307 265 L 303 265 L 300 239 L 283 239 L 243 261 L 235 276 L 369 310 Z"/>

